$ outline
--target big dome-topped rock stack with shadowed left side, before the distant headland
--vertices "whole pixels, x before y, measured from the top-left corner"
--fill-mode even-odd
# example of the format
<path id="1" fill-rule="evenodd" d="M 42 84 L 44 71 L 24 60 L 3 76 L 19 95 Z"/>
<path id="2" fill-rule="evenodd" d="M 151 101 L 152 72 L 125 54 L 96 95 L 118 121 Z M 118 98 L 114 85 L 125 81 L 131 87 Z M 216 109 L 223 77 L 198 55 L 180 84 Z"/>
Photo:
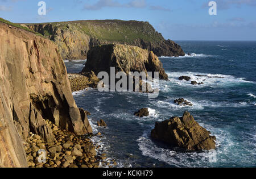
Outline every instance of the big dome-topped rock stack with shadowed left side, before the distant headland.
<path id="1" fill-rule="evenodd" d="M 110 68 L 115 72 L 159 72 L 159 78 L 168 80 L 163 64 L 158 57 L 146 49 L 130 45 L 101 45 L 93 47 L 87 56 L 85 68 L 82 72 L 93 71 L 96 76 L 100 72 L 110 74 Z M 154 77 L 154 76 L 153 76 Z"/>

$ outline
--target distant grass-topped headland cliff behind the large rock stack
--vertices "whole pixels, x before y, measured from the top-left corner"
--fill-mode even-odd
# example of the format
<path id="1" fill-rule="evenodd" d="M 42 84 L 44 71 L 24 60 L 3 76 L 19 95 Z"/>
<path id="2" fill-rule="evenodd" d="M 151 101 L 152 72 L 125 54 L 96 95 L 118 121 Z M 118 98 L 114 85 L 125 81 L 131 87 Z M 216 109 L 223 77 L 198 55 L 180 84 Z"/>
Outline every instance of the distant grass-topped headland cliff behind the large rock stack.
<path id="1" fill-rule="evenodd" d="M 148 22 L 80 20 L 26 26 L 55 41 L 63 59 L 86 59 L 93 46 L 104 44 L 133 45 L 153 51 L 157 56 L 185 55 L 179 45 L 165 40 Z"/>

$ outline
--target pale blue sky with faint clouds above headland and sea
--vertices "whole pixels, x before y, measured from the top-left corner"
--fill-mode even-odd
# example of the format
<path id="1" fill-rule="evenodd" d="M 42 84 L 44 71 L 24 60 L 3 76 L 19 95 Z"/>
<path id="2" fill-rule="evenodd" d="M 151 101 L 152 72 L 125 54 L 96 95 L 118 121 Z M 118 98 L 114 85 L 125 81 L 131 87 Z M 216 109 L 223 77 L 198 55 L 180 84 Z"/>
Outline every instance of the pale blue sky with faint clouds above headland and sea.
<path id="1" fill-rule="evenodd" d="M 17 23 L 90 19 L 147 21 L 172 40 L 256 40 L 256 0 L 0 0 L 0 17 Z"/>

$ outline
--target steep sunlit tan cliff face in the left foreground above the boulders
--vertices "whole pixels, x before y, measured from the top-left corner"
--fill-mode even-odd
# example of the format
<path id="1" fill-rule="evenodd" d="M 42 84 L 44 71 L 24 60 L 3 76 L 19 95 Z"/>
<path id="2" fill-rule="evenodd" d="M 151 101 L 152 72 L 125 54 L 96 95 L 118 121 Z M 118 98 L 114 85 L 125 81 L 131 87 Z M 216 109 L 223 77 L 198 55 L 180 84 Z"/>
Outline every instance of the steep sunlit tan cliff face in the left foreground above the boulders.
<path id="1" fill-rule="evenodd" d="M 29 132 L 53 140 L 46 119 L 77 135 L 92 132 L 52 41 L 0 22 L 0 44 L 0 167 L 27 166 Z"/>

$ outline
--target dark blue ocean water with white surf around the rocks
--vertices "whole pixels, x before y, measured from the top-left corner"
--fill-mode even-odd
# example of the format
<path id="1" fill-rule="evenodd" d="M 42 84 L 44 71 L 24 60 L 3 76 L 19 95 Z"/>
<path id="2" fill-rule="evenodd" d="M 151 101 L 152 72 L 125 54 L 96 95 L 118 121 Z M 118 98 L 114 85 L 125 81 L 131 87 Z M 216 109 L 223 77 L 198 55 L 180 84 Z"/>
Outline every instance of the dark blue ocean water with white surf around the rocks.
<path id="1" fill-rule="evenodd" d="M 89 89 L 73 93 L 76 103 L 90 113 L 94 137 L 118 167 L 251 167 L 256 166 L 256 42 L 178 41 L 193 56 L 161 57 L 170 81 L 160 81 L 159 97 L 141 93 L 100 93 Z M 81 71 L 85 61 L 65 61 L 69 73 Z M 203 75 L 198 77 L 197 75 Z M 180 76 L 204 82 L 193 86 Z M 192 107 L 174 104 L 185 98 Z M 150 109 L 150 116 L 134 112 Z M 152 141 L 156 121 L 189 111 L 217 138 L 216 152 L 188 152 Z M 98 128 L 104 119 L 107 128 Z M 212 159 L 214 155 L 214 159 Z"/>

